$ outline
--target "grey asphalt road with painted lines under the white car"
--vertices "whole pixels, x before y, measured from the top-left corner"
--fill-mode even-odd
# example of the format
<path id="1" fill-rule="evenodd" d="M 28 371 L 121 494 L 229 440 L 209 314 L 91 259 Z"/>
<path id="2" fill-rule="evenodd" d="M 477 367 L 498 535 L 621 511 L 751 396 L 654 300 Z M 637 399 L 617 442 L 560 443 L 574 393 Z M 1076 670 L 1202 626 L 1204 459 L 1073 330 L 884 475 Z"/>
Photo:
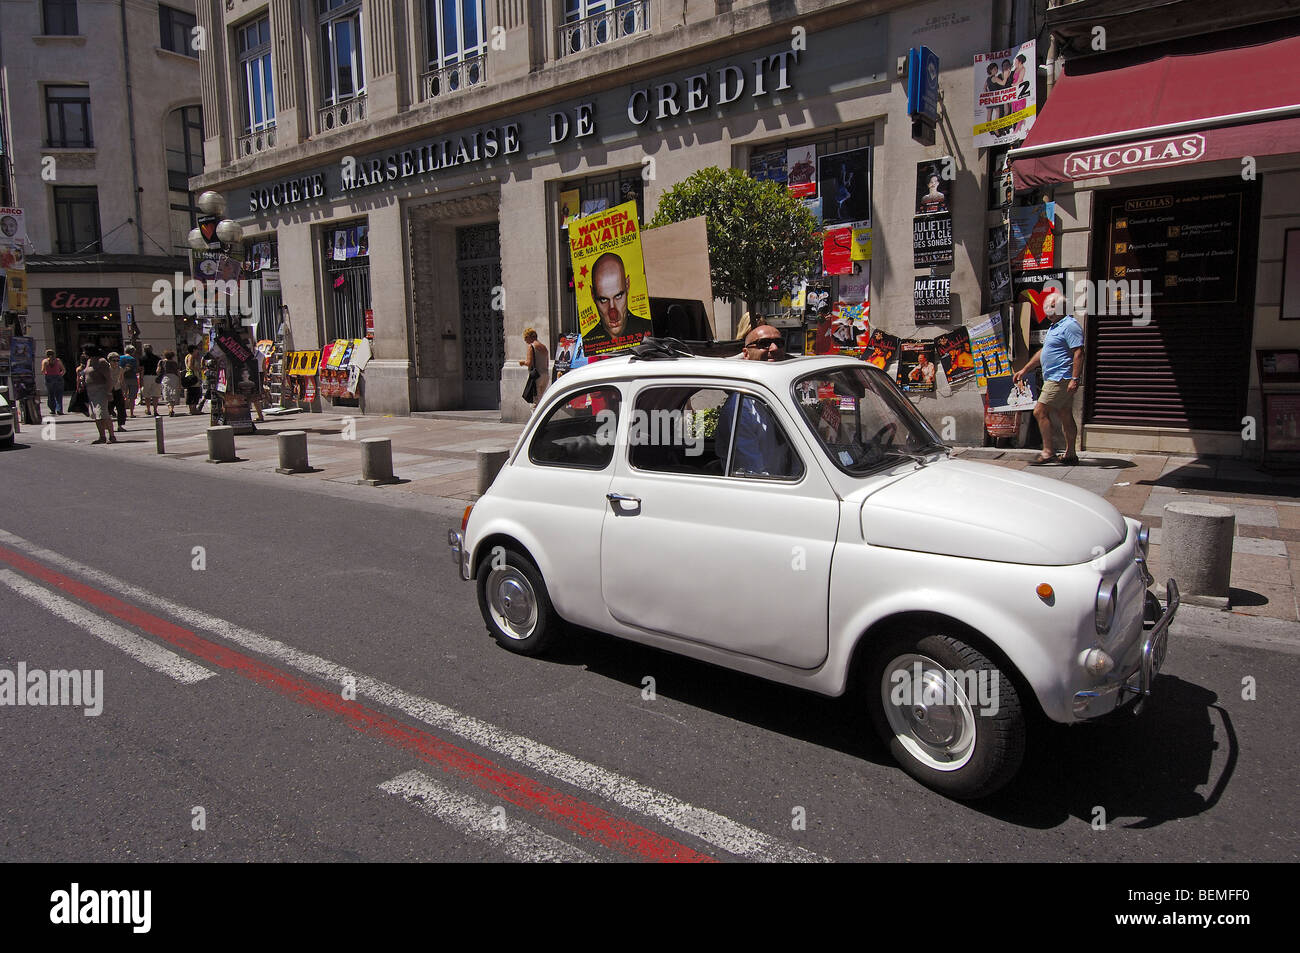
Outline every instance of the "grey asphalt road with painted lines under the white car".
<path id="1" fill-rule="evenodd" d="M 852 698 L 595 633 L 500 650 L 450 506 L 39 443 L 0 485 L 0 670 L 103 671 L 98 716 L 0 707 L 3 861 L 1300 857 L 1284 644 L 1175 624 L 1140 719 L 1040 727 L 957 803 Z"/>

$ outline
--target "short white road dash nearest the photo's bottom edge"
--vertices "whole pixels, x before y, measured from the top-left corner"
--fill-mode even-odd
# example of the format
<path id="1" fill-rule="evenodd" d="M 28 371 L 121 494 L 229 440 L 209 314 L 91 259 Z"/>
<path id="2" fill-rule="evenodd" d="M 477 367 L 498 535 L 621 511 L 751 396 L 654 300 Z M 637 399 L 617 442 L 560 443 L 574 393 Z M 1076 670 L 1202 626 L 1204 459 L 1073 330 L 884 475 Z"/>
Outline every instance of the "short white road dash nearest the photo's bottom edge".
<path id="1" fill-rule="evenodd" d="M 380 785 L 380 790 L 398 794 L 462 833 L 485 841 L 514 861 L 525 863 L 594 863 L 585 850 L 542 833 L 536 827 L 511 816 L 493 816 L 485 801 L 445 788 L 422 771 L 407 771 Z M 493 824 L 500 818 L 504 829 Z"/>

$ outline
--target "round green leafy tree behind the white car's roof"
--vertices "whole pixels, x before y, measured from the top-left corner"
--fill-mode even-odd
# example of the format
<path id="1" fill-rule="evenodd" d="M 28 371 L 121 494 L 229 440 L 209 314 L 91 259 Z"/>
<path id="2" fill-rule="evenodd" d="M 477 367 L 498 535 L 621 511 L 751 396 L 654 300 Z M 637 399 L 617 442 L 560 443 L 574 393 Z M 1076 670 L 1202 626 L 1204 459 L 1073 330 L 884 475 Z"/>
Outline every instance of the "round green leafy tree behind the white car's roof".
<path id="1" fill-rule="evenodd" d="M 822 251 L 816 218 L 780 182 L 701 169 L 663 194 L 649 228 L 701 215 L 708 220 L 715 298 L 745 302 L 757 315 L 759 302 L 776 296 L 772 289 L 812 274 Z"/>

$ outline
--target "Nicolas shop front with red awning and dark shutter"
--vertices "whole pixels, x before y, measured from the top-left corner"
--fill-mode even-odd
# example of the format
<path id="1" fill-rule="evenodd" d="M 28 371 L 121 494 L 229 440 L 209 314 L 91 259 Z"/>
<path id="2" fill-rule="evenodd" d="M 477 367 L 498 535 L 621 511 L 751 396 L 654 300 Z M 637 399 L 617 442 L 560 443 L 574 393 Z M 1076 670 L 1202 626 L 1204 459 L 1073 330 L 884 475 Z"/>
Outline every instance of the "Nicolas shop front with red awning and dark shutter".
<path id="1" fill-rule="evenodd" d="M 1011 151 L 1017 186 L 1066 212 L 1088 450 L 1268 451 L 1257 352 L 1300 346 L 1279 313 L 1300 225 L 1300 35 L 1214 43 L 1067 65 Z"/>

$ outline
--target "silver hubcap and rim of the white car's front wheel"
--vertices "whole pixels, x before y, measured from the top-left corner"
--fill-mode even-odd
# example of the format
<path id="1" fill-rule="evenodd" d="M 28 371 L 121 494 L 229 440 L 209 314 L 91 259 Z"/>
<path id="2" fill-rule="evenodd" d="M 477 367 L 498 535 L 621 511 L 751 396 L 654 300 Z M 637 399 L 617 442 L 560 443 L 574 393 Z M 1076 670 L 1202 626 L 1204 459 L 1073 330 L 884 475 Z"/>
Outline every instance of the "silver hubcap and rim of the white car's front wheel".
<path id="1" fill-rule="evenodd" d="M 880 698 L 889 729 L 927 767 L 956 771 L 975 753 L 975 710 L 952 672 L 924 655 L 885 666 Z"/>

